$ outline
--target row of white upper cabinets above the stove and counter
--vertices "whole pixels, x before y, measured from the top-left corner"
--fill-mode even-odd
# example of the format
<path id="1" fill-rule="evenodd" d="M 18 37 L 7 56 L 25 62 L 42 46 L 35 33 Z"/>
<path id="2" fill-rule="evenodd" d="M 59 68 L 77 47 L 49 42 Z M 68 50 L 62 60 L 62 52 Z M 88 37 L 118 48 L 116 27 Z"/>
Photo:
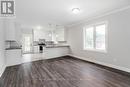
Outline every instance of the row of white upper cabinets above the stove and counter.
<path id="1" fill-rule="evenodd" d="M 65 41 L 65 29 L 34 29 L 34 41 L 45 39 L 46 41 Z"/>

